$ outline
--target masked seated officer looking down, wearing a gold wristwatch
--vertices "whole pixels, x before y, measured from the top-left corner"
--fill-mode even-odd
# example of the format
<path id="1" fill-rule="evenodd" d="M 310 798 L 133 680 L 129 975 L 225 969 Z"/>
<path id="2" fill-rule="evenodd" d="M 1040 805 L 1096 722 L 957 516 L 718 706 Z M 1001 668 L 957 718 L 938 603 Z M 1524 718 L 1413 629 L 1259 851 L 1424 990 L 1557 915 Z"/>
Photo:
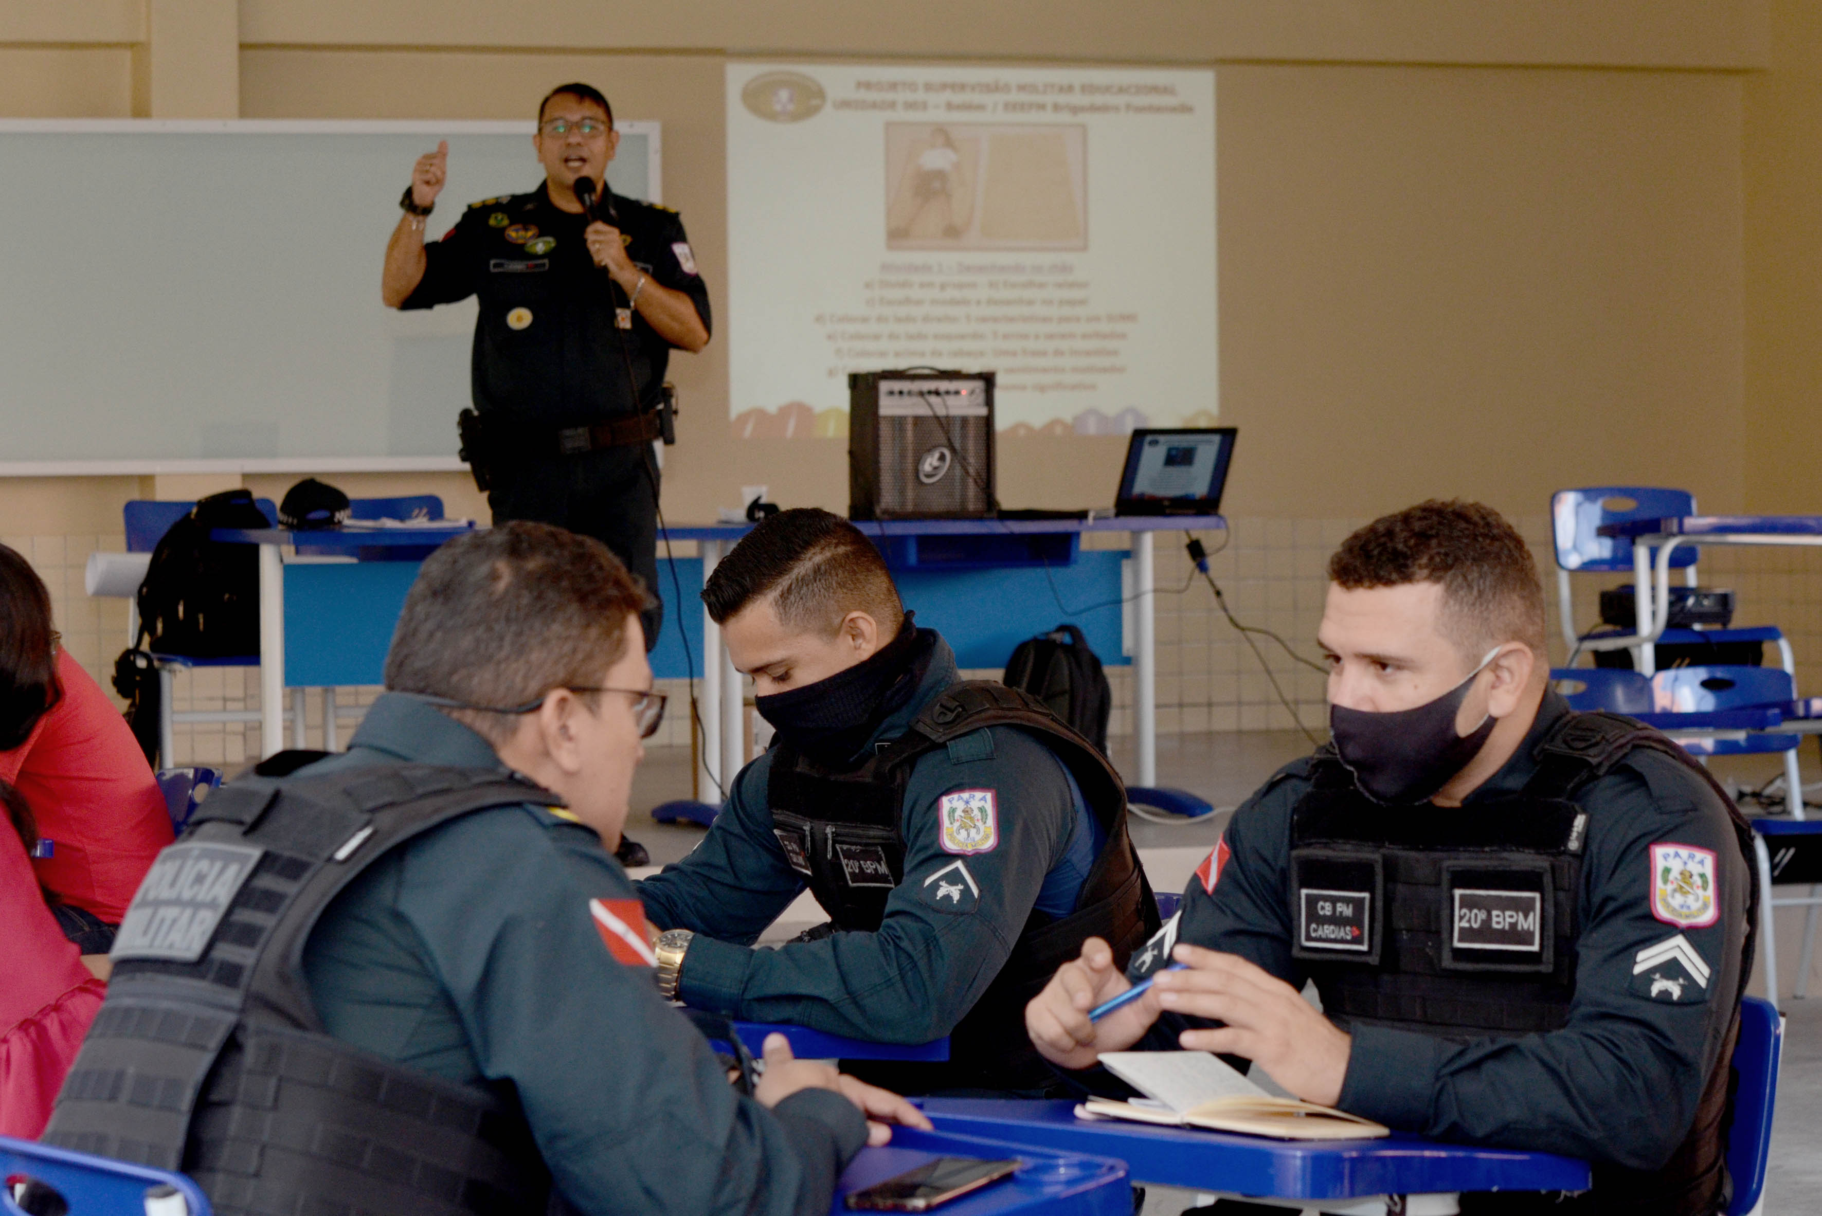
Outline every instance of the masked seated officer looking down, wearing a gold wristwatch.
<path id="1" fill-rule="evenodd" d="M 1111 766 L 1024 694 L 962 683 L 829 512 L 762 522 L 701 597 L 776 739 L 703 843 L 640 883 L 669 930 L 660 990 L 873 1041 L 949 1034 L 949 1065 L 856 1065 L 907 1092 L 1051 1083 L 1026 1001 L 1090 934 L 1124 959 L 1157 927 Z M 805 887 L 829 925 L 751 948 Z"/>

